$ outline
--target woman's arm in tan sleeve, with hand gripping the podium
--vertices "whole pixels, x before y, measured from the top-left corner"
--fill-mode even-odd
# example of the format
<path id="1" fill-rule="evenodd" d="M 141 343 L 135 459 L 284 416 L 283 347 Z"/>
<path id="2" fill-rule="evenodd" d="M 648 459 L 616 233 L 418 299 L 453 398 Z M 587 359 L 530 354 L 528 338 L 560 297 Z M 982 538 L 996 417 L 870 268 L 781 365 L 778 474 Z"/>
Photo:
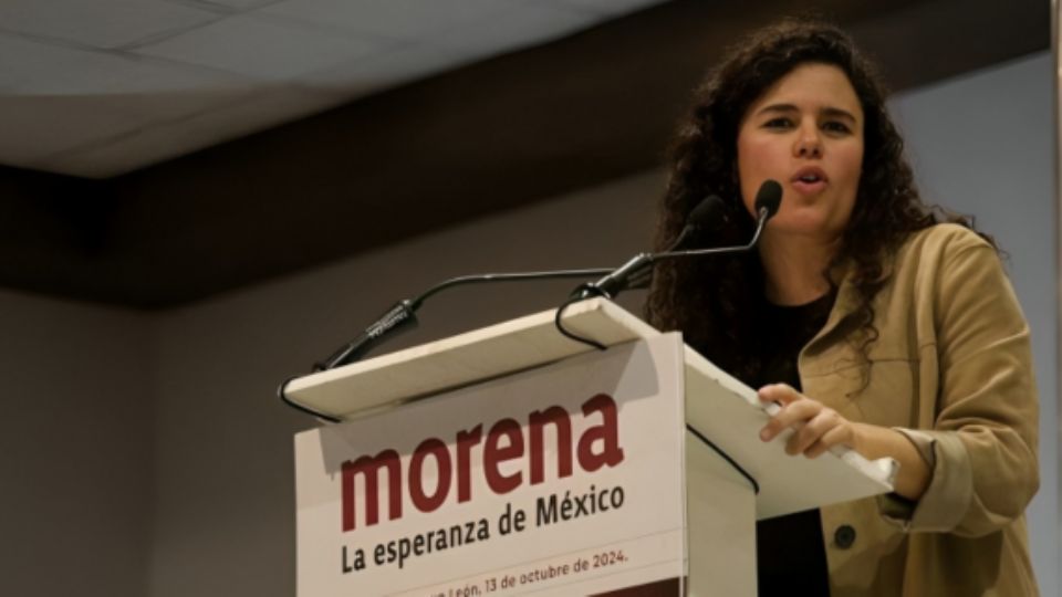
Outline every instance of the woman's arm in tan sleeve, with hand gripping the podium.
<path id="1" fill-rule="evenodd" d="M 931 292 L 910 306 L 934 318 L 935 337 L 918 346 L 923 365 L 935 365 L 924 371 L 937 371 L 936 395 L 920 398 L 931 401 L 931 427 L 855 423 L 791 388 L 768 386 L 761 399 L 783 408 L 763 437 L 792 427 L 793 453 L 843 443 L 868 458 L 892 457 L 902 465 L 896 492 L 914 502 L 909 530 L 980 536 L 1020 516 L 1039 488 L 1029 326 L 991 245 L 965 230 L 935 241 L 928 254 L 939 262 L 923 280 Z"/>

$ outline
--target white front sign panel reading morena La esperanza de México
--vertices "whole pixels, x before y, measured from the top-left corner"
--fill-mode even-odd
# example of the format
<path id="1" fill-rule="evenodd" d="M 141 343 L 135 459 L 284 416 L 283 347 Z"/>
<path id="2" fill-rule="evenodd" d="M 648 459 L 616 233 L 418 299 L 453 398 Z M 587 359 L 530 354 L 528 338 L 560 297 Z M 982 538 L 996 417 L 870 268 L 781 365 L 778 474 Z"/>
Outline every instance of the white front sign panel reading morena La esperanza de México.
<path id="1" fill-rule="evenodd" d="M 300 597 L 677 591 L 681 370 L 666 335 L 300 433 Z"/>

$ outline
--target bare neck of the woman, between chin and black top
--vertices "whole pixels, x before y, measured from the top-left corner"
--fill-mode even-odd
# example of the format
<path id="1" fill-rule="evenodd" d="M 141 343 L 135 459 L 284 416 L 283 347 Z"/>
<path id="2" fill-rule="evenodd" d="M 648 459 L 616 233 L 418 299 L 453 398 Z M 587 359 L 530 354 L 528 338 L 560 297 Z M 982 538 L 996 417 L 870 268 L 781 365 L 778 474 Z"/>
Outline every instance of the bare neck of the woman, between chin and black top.
<path id="1" fill-rule="evenodd" d="M 830 292 L 823 272 L 836 252 L 836 240 L 764 234 L 759 249 L 768 301 L 775 305 L 803 305 Z"/>

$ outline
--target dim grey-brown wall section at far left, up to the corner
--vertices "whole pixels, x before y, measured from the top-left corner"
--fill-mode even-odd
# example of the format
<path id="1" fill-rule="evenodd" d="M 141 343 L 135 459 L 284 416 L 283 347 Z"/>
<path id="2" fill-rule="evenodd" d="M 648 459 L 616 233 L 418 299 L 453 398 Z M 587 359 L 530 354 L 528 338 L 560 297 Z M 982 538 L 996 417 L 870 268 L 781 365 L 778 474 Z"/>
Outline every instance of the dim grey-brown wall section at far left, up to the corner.
<path id="1" fill-rule="evenodd" d="M 0 595 L 144 595 L 149 323 L 0 292 Z"/>

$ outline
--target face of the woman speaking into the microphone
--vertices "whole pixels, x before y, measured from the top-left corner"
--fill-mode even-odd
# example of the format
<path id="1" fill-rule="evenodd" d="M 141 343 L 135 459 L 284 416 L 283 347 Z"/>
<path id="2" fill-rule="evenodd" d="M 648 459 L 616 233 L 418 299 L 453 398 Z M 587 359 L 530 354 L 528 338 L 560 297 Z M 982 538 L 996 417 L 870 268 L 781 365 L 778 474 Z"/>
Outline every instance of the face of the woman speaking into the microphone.
<path id="1" fill-rule="evenodd" d="M 863 108 L 836 66 L 798 65 L 769 87 L 738 127 L 738 176 L 749 212 L 767 179 L 782 185 L 770 234 L 840 238 L 863 163 Z"/>

